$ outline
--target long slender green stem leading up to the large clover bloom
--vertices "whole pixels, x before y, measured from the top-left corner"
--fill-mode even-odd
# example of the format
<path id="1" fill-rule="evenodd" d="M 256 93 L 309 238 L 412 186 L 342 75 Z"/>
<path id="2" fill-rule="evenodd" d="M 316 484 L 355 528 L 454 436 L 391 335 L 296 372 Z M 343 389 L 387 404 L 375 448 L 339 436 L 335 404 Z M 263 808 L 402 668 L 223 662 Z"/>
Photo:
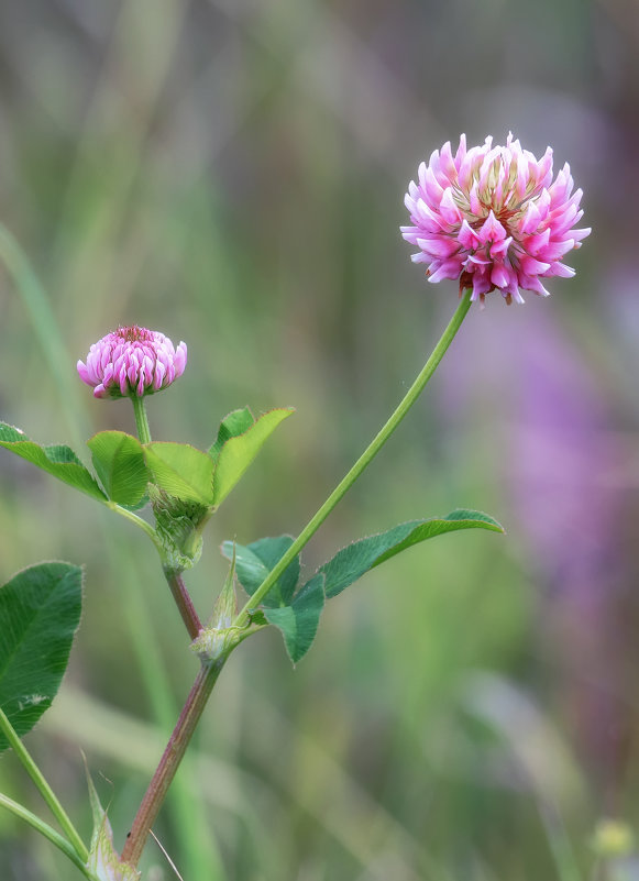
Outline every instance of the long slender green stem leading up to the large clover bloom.
<path id="1" fill-rule="evenodd" d="M 282 575 L 284 570 L 287 565 L 297 557 L 297 554 L 301 551 L 305 544 L 312 538 L 312 536 L 317 532 L 323 521 L 327 519 L 329 514 L 335 507 L 335 505 L 340 502 L 340 499 L 345 495 L 345 493 L 351 488 L 354 482 L 357 480 L 360 474 L 364 471 L 366 465 L 375 458 L 375 455 L 379 452 L 382 447 L 386 443 L 390 434 L 395 431 L 399 422 L 404 419 L 408 410 L 412 407 L 419 395 L 421 394 L 425 385 L 428 383 L 432 374 L 434 373 L 439 362 L 445 354 L 447 349 L 453 341 L 453 338 L 462 321 L 464 320 L 466 312 L 471 308 L 471 291 L 466 290 L 460 300 L 460 304 L 450 320 L 449 326 L 444 330 L 441 335 L 440 341 L 436 345 L 432 351 L 431 356 L 426 362 L 423 368 L 421 370 L 420 374 L 412 383 L 408 392 L 406 393 L 404 399 L 395 410 L 395 412 L 390 416 L 386 425 L 379 430 L 379 432 L 373 438 L 368 447 L 364 450 L 360 459 L 355 462 L 353 467 L 349 471 L 345 477 L 338 484 L 338 486 L 333 489 L 330 496 L 327 498 L 324 504 L 321 508 L 317 511 L 315 517 L 309 520 L 307 526 L 301 530 L 297 539 L 293 542 L 290 548 L 280 558 L 277 565 L 271 570 L 268 575 L 264 579 L 260 587 L 255 591 L 255 593 L 251 596 L 244 608 L 240 612 L 238 617 L 234 620 L 234 626 L 242 627 L 246 624 L 249 619 L 249 612 L 250 609 L 256 608 L 260 603 L 264 599 L 268 591 L 273 587 L 277 579 Z"/>

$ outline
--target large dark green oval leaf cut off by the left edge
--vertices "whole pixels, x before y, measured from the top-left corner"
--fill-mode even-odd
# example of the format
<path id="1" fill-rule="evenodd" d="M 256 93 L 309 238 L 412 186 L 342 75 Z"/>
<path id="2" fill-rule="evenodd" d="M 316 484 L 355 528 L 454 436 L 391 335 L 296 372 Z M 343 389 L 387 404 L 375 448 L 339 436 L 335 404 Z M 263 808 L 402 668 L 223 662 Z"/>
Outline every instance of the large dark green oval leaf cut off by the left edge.
<path id="1" fill-rule="evenodd" d="M 82 572 L 70 563 L 30 566 L 0 587 L 0 706 L 20 736 L 57 694 L 81 604 Z"/>

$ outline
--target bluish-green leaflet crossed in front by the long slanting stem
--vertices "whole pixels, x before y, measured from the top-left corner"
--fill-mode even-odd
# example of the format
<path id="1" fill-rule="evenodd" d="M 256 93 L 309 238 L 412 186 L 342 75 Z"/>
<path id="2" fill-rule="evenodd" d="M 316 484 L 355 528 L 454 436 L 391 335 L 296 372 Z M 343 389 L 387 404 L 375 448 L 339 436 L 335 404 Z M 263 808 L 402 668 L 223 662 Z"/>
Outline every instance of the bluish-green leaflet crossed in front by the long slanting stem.
<path id="1" fill-rule="evenodd" d="M 235 551 L 235 574 L 238 581 L 249 595 L 253 595 L 275 564 L 284 557 L 293 544 L 290 536 L 263 538 L 251 544 L 234 544 L 224 541 L 222 553 L 231 560 Z M 262 601 L 266 607 L 286 606 L 290 603 L 299 580 L 299 557 L 284 570 L 271 591 Z"/>

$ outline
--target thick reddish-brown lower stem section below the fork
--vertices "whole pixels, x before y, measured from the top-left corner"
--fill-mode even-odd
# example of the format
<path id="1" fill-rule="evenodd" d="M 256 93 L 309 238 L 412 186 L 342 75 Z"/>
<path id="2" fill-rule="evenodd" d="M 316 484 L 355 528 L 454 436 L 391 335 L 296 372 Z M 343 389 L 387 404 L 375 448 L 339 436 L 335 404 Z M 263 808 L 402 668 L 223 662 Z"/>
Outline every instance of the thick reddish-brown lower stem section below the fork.
<path id="1" fill-rule="evenodd" d="M 191 741 L 225 659 L 227 656 L 222 656 L 212 664 L 202 664 L 186 700 L 177 725 L 148 784 L 122 850 L 122 862 L 126 862 L 133 868 L 140 861 L 151 827 L 155 823 L 168 788 Z"/>

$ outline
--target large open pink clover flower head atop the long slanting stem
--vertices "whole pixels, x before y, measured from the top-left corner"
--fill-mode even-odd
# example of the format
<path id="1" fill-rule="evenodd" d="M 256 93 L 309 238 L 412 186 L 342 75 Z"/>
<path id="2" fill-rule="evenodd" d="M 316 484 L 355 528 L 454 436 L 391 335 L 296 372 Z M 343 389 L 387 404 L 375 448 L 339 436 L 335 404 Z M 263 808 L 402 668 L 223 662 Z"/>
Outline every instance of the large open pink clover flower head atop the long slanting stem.
<path id="1" fill-rule="evenodd" d="M 456 278 L 472 300 L 499 290 L 507 304 L 524 302 L 520 288 L 547 297 L 541 279 L 573 276 L 561 260 L 591 232 L 572 229 L 583 216 L 582 190 L 572 189 L 568 163 L 552 179 L 550 147 L 537 159 L 509 134 L 505 146 L 486 137 L 466 150 L 462 134 L 454 156 L 447 142 L 419 166 L 401 234 L 419 249 L 412 261 L 427 264 L 429 282 Z"/>

